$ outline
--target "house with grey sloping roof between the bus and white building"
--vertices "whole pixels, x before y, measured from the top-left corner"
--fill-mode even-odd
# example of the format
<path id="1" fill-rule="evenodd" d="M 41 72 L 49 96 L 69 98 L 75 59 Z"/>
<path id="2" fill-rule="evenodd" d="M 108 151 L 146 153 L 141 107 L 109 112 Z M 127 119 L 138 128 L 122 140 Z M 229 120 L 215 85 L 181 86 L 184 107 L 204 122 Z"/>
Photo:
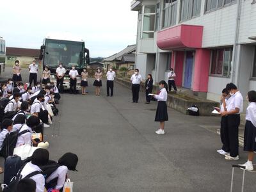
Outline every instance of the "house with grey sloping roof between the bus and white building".
<path id="1" fill-rule="evenodd" d="M 122 51 L 109 56 L 103 60 L 104 68 L 109 69 L 109 66 L 113 66 L 116 69 L 126 67 L 128 70 L 134 69 L 136 45 L 128 45 Z"/>

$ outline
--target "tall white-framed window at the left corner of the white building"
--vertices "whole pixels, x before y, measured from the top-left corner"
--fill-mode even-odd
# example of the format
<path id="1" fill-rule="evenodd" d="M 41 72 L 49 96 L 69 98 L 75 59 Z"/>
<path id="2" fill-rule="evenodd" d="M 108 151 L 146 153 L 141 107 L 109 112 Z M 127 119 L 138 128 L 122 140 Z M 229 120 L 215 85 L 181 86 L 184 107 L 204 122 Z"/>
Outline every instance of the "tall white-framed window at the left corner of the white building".
<path id="1" fill-rule="evenodd" d="M 141 38 L 154 38 L 156 6 L 143 6 L 143 24 Z"/>

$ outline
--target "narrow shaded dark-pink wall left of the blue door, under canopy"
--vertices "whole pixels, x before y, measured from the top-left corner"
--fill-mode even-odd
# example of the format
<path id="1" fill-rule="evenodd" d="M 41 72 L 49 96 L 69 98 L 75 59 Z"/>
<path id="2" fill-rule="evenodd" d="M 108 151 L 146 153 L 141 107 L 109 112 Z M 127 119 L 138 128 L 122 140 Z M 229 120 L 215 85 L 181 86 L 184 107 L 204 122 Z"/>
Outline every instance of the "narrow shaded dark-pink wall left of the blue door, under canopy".
<path id="1" fill-rule="evenodd" d="M 172 66 L 175 65 L 175 67 L 173 68 L 176 74 L 175 83 L 177 86 L 182 86 L 183 62 L 184 62 L 184 51 L 173 51 Z"/>

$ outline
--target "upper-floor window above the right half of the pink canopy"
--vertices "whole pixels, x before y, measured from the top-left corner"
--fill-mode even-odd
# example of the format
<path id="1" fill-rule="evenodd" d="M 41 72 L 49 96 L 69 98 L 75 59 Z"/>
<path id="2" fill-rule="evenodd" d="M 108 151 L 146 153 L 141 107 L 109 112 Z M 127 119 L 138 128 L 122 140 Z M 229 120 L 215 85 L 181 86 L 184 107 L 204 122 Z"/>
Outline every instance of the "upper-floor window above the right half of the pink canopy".
<path id="1" fill-rule="evenodd" d="M 189 20 L 200 15 L 201 0 L 182 0 L 180 4 L 180 21 Z"/>

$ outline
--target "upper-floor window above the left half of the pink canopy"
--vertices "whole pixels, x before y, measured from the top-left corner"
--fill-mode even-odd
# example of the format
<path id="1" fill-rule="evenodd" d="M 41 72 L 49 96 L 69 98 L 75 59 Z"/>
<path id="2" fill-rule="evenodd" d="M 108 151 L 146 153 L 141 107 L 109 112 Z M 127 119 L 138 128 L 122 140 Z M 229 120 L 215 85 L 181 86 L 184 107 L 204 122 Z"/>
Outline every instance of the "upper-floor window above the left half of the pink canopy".
<path id="1" fill-rule="evenodd" d="M 162 28 L 176 24 L 177 0 L 164 0 Z"/>

